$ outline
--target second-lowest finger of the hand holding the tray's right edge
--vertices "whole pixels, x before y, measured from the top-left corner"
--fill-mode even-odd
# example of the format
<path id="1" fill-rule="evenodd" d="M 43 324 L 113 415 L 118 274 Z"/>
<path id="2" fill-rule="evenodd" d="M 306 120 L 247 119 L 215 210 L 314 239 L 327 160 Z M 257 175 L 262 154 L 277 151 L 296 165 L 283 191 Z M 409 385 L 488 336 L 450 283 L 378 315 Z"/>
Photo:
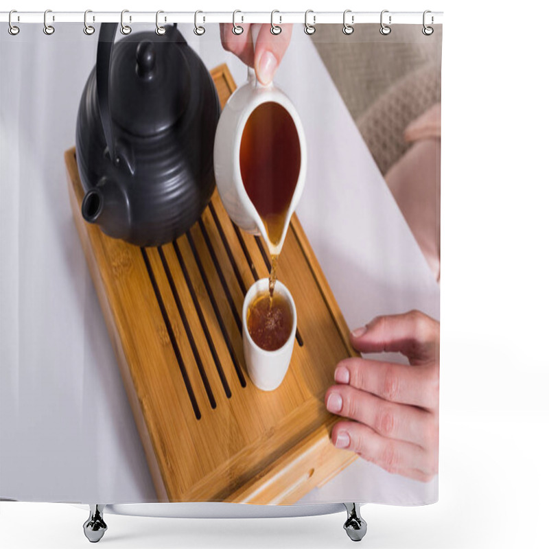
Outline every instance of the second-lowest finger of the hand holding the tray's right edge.
<path id="1" fill-rule="evenodd" d="M 369 425 L 389 439 L 432 448 L 438 435 L 434 414 L 405 404 L 395 404 L 348 385 L 330 387 L 325 397 L 332 414 Z"/>

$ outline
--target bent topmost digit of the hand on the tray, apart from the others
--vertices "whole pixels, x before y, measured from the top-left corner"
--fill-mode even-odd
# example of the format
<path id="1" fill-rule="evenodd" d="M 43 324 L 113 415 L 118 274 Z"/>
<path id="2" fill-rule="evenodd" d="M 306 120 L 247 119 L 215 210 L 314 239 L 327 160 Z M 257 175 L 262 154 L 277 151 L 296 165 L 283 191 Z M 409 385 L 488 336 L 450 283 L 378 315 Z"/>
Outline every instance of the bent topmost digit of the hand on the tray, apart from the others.
<path id="1" fill-rule="evenodd" d="M 362 353 L 396 351 L 411 364 L 436 360 L 439 352 L 440 325 L 419 311 L 377 316 L 366 326 L 351 331 L 353 347 Z"/>

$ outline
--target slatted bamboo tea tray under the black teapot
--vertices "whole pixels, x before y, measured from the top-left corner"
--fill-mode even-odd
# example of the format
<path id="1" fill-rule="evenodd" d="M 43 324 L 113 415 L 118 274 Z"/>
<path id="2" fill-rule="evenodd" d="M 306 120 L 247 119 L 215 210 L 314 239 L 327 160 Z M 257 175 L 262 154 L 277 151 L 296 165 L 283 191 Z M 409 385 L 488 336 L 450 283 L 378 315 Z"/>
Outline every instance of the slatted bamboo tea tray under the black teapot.
<path id="1" fill-rule="evenodd" d="M 235 89 L 212 71 L 222 106 Z M 294 215 L 277 268 L 297 309 L 283 384 L 270 393 L 246 373 L 242 303 L 268 277 L 264 242 L 241 231 L 217 191 L 187 234 L 159 248 L 114 240 L 80 213 L 75 150 L 65 153 L 73 216 L 158 498 L 291 504 L 349 465 L 325 410 L 334 367 L 355 355 L 348 329 Z M 116 421 L 113 418 L 113 421 Z"/>

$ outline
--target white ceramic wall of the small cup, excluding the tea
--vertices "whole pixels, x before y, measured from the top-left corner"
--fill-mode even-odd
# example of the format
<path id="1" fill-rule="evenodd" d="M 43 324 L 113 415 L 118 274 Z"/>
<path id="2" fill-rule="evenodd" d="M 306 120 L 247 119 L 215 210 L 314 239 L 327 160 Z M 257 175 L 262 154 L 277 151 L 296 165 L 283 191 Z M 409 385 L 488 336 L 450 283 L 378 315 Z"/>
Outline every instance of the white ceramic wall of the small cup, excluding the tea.
<path id="1" fill-rule="evenodd" d="M 288 340 L 282 347 L 276 351 L 266 351 L 261 349 L 259 345 L 251 338 L 248 331 L 248 308 L 250 303 L 253 302 L 257 294 L 263 294 L 269 290 L 269 279 L 259 279 L 246 293 L 244 298 L 244 306 L 242 307 L 242 339 L 244 340 L 244 359 L 246 360 L 246 366 L 248 368 L 248 375 L 252 379 L 253 384 L 261 390 L 274 390 L 276 389 L 284 379 L 288 366 L 290 366 L 290 359 L 292 358 L 292 351 L 294 350 L 294 340 L 296 338 L 297 328 L 297 313 L 296 305 L 292 294 L 288 288 L 280 281 L 277 281 L 274 286 L 274 293 L 280 294 L 283 299 L 290 304 L 290 310 L 292 311 L 292 331 Z"/>

